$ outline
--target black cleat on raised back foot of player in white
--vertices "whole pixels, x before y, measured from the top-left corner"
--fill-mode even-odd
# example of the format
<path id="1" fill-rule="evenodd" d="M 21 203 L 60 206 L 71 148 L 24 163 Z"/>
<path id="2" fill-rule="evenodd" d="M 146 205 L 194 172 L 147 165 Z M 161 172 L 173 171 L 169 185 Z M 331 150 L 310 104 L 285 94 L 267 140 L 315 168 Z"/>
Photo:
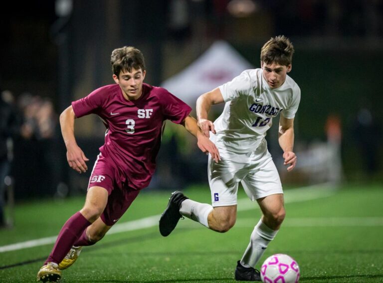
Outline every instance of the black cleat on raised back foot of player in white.
<path id="1" fill-rule="evenodd" d="M 180 214 L 181 203 L 189 199 L 183 193 L 175 191 L 169 199 L 168 206 L 160 218 L 160 233 L 166 237 L 176 228 L 178 221 L 183 216 Z"/>

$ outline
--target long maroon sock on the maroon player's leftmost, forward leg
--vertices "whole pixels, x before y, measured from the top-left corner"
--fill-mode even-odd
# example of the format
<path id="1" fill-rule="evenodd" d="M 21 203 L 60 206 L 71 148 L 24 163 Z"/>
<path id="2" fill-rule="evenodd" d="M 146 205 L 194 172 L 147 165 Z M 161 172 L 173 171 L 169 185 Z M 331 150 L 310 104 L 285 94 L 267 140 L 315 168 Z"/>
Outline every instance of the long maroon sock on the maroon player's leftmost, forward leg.
<path id="1" fill-rule="evenodd" d="M 76 242 L 89 225 L 91 223 L 80 212 L 75 213 L 69 218 L 61 228 L 56 243 L 45 264 L 48 262 L 59 264 L 70 251 L 73 243 Z"/>

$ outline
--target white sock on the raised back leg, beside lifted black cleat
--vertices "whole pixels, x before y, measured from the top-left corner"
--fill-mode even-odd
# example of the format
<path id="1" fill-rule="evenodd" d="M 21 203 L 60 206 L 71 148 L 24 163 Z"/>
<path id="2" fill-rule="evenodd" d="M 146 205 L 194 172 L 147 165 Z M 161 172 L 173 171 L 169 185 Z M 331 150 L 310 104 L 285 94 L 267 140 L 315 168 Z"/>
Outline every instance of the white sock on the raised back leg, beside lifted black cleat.
<path id="1" fill-rule="evenodd" d="M 182 216 L 190 218 L 200 224 L 209 228 L 207 223 L 207 216 L 213 210 L 213 207 L 209 204 L 201 204 L 190 199 L 182 202 L 180 207 L 180 213 Z"/>

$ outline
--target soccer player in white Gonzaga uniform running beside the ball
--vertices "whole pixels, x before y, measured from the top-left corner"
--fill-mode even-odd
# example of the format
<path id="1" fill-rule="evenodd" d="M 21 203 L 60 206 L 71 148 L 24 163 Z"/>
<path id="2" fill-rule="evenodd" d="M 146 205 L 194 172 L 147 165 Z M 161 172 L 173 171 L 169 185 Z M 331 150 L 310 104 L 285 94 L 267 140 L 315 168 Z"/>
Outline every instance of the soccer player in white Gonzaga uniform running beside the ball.
<path id="1" fill-rule="evenodd" d="M 294 47 L 287 37 L 271 38 L 261 49 L 261 68 L 245 70 L 232 81 L 199 96 L 198 126 L 214 141 L 221 157 L 218 162 L 211 157 L 208 161 L 212 206 L 192 201 L 176 191 L 160 219 L 163 236 L 168 236 L 183 216 L 211 230 L 226 232 L 235 224 L 240 182 L 247 196 L 257 201 L 262 217 L 237 262 L 238 281 L 261 281 L 254 267 L 285 218 L 282 185 L 265 136 L 272 119 L 279 114 L 284 165 L 287 171 L 293 170 L 297 162 L 293 152 L 294 116 L 300 101 L 300 89 L 287 75 L 293 53 Z M 209 121 L 211 105 L 223 102 L 222 114 L 214 123 Z"/>

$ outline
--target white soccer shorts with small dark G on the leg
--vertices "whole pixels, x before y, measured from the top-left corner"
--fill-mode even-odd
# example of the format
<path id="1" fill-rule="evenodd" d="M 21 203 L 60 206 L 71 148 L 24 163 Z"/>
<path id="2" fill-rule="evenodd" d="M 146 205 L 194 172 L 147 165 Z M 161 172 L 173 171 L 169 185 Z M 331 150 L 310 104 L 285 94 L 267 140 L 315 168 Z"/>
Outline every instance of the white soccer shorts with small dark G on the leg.
<path id="1" fill-rule="evenodd" d="M 247 196 L 255 201 L 269 195 L 283 194 L 281 180 L 266 140 L 249 153 L 234 153 L 219 149 L 221 161 L 208 161 L 208 180 L 213 207 L 237 204 L 238 183 Z"/>

